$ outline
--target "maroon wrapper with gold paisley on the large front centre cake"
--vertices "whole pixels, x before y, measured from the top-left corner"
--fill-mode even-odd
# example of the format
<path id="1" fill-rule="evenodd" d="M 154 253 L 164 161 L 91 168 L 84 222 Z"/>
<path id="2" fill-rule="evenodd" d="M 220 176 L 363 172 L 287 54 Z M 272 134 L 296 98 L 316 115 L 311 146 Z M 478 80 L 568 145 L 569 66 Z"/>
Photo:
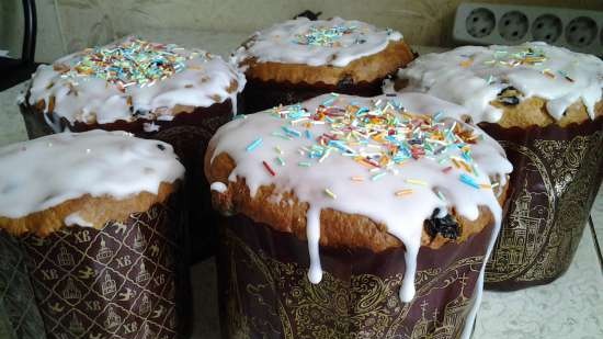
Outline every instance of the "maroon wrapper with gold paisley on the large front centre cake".
<path id="1" fill-rule="evenodd" d="M 420 270 L 417 295 L 403 304 L 402 273 L 340 279 L 326 271 L 315 285 L 306 267 L 253 250 L 230 228 L 221 239 L 229 338 L 457 338 L 483 259 Z"/>

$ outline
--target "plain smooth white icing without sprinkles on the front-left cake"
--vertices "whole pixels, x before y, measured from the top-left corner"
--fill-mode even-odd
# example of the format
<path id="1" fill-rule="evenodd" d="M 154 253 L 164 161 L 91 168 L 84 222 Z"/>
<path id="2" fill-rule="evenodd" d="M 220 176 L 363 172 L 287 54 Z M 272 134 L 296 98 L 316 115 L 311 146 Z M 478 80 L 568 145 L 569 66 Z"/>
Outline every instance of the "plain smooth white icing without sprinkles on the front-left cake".
<path id="1" fill-rule="evenodd" d="M 0 148 L 0 215 L 23 217 L 86 194 L 157 194 L 161 182 L 183 174 L 172 146 L 163 142 L 124 132 L 49 135 Z M 77 223 L 75 217 L 66 223 Z"/>

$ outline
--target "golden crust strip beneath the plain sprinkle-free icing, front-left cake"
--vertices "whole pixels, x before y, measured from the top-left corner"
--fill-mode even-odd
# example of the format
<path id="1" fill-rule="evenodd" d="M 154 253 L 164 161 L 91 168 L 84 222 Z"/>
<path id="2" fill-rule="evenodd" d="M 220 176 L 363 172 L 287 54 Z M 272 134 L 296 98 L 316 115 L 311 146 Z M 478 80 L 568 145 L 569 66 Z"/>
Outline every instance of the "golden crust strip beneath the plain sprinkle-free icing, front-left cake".
<path id="1" fill-rule="evenodd" d="M 36 236 L 46 237 L 65 227 L 65 218 L 72 213 L 77 213 L 83 221 L 100 229 L 106 222 L 126 222 L 132 213 L 145 212 L 156 203 L 166 202 L 175 192 L 179 184 L 179 182 L 162 182 L 158 194 L 140 192 L 122 200 L 87 194 L 24 217 L 9 218 L 0 216 L 0 228 L 4 228 L 13 235 L 33 233 Z"/>

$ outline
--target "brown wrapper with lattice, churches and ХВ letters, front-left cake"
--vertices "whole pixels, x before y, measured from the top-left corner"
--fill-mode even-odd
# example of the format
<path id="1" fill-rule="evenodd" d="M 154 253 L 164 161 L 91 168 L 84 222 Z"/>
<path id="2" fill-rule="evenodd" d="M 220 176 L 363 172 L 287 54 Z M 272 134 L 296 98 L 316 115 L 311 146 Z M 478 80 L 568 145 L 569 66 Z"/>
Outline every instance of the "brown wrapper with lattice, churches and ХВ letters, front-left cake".
<path id="1" fill-rule="evenodd" d="M 23 237 L 47 338 L 182 338 L 190 290 L 178 217 L 170 204 L 155 204 L 100 230 Z"/>

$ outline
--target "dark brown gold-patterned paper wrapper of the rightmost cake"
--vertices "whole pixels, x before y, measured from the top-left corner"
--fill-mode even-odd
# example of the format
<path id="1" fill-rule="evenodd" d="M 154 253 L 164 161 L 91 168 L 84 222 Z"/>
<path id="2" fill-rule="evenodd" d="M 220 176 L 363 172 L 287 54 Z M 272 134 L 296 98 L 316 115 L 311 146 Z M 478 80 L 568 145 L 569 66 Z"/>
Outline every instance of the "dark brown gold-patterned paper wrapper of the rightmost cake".
<path id="1" fill-rule="evenodd" d="M 603 117 L 567 127 L 480 124 L 513 163 L 510 205 L 486 286 L 546 284 L 569 267 L 603 178 Z"/>

